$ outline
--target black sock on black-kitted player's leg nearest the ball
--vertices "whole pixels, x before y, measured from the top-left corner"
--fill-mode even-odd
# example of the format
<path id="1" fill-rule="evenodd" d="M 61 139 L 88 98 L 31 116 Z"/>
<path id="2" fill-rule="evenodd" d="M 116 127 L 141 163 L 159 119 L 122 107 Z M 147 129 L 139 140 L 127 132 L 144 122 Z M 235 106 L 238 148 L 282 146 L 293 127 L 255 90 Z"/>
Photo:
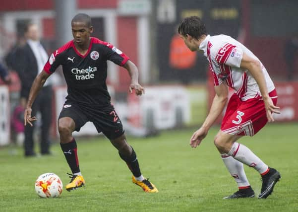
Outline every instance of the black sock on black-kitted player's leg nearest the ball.
<path id="1" fill-rule="evenodd" d="M 72 173 L 80 172 L 75 140 L 73 139 L 69 143 L 60 143 L 60 146 Z"/>

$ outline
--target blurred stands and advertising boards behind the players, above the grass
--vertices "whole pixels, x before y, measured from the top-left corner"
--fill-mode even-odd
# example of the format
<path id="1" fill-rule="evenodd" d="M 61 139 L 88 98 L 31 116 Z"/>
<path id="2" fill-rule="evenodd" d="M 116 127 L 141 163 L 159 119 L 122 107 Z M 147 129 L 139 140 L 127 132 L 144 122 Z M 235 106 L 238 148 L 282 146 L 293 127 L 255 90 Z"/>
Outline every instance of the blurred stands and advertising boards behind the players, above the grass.
<path id="1" fill-rule="evenodd" d="M 185 49 L 177 39 L 179 21 L 200 16 L 211 35 L 224 33 L 244 43 L 263 62 L 273 78 L 282 113 L 278 122 L 298 121 L 298 2 L 297 0 L 14 0 L 0 4 L 0 60 L 22 42 L 24 25 L 37 23 L 51 54 L 72 39 L 70 21 L 78 12 L 92 17 L 93 36 L 125 52 L 140 72 L 146 95 L 128 94 L 129 76 L 114 64 L 109 90 L 126 132 L 153 136 L 160 130 L 199 126 L 204 120 L 213 84 L 207 60 Z M 18 59 L 14 59 L 17 63 Z M 19 104 L 20 83 L 0 81 L 0 145 L 15 142 L 12 113 Z M 61 71 L 53 91 L 56 122 L 66 95 Z M 220 120 L 219 120 L 220 121 Z M 37 123 L 40 124 L 40 123 Z M 86 125 L 77 135 L 96 135 Z"/>

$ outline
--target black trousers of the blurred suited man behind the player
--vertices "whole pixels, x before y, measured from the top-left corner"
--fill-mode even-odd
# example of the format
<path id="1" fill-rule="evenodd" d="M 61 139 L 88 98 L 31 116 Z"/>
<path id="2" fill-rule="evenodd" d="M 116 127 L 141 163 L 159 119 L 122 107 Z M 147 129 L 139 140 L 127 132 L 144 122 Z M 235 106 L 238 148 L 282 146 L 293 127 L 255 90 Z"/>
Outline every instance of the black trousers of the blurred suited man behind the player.
<path id="1" fill-rule="evenodd" d="M 42 154 L 49 153 L 50 148 L 50 126 L 52 122 L 52 86 L 45 86 L 43 87 L 39 94 L 36 97 L 32 105 L 32 113 L 31 117 L 36 116 L 37 112 L 41 113 L 41 141 L 40 141 L 40 152 Z M 24 141 L 24 149 L 25 155 L 32 155 L 35 154 L 34 152 L 34 141 L 33 141 L 33 131 L 34 126 L 36 123 L 33 124 L 31 127 L 29 124 L 25 127 L 25 141 Z"/>

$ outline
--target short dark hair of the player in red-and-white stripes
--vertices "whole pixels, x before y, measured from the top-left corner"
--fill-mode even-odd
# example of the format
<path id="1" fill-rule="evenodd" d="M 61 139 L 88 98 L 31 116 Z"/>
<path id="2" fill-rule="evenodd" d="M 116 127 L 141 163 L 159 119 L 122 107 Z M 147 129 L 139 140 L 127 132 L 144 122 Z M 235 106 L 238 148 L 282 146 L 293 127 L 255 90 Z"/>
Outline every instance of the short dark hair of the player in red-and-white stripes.
<path id="1" fill-rule="evenodd" d="M 199 40 L 202 35 L 207 35 L 207 29 L 198 16 L 190 16 L 181 20 L 178 27 L 178 33 L 183 36 L 188 34 Z"/>

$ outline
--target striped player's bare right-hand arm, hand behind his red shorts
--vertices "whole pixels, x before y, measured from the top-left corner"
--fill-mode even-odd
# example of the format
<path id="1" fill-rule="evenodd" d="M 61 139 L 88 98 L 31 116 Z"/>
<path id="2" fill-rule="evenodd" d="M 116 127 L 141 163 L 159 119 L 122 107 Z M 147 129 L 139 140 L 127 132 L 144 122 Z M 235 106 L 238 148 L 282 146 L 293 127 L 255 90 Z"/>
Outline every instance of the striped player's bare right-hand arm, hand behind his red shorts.
<path id="1" fill-rule="evenodd" d="M 248 70 L 251 73 L 252 77 L 256 80 L 265 104 L 268 122 L 273 122 L 274 119 L 272 113 L 280 113 L 280 108 L 275 106 L 271 98 L 269 97 L 265 77 L 260 62 L 243 53 L 240 67 L 242 69 Z"/>

